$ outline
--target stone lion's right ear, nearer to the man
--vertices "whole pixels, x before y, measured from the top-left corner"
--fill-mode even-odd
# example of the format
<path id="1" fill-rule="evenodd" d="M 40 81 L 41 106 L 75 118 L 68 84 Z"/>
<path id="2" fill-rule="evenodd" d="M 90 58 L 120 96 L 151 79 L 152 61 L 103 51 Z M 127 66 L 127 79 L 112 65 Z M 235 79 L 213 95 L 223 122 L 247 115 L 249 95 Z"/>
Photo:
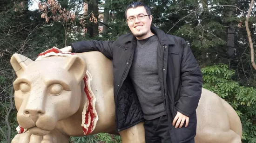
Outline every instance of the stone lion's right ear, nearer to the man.
<path id="1" fill-rule="evenodd" d="M 74 75 L 77 81 L 81 81 L 86 74 L 86 62 L 77 55 L 72 55 L 67 58 L 65 65 L 67 71 Z"/>

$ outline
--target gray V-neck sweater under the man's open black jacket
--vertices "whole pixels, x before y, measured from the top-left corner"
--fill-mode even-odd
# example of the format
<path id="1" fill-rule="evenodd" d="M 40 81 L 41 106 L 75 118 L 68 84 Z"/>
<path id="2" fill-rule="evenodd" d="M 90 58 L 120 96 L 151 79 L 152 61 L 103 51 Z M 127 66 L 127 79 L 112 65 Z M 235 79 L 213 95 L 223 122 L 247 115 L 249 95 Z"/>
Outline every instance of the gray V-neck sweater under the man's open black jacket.
<path id="1" fill-rule="evenodd" d="M 141 103 L 144 118 L 147 120 L 166 114 L 157 73 L 156 54 L 158 44 L 159 41 L 155 35 L 149 37 L 143 45 L 137 41 L 129 71 L 129 76 Z"/>

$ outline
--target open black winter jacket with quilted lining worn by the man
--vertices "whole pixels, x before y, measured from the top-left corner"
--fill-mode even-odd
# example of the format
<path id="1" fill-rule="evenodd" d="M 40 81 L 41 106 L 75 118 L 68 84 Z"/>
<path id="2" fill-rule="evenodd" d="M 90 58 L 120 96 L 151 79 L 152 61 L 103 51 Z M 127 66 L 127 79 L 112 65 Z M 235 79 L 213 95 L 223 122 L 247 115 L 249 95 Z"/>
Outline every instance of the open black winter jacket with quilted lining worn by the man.
<path id="1" fill-rule="evenodd" d="M 195 137 L 196 112 L 202 92 L 202 72 L 189 45 L 181 37 L 165 34 L 151 27 L 160 45 L 157 50 L 158 76 L 162 99 L 167 111 L 172 143 L 183 143 Z M 81 41 L 71 44 L 75 53 L 100 51 L 113 61 L 116 130 L 122 131 L 143 122 L 143 112 L 128 72 L 133 61 L 136 38 L 132 33 L 115 41 Z M 175 129 L 178 112 L 189 117 L 188 127 Z"/>

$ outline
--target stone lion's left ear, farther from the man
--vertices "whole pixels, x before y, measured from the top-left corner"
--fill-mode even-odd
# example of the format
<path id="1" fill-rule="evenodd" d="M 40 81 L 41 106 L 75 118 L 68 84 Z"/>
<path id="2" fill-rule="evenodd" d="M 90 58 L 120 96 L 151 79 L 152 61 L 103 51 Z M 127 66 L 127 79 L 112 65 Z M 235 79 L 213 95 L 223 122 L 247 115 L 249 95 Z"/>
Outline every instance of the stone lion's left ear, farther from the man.
<path id="1" fill-rule="evenodd" d="M 15 53 L 11 57 L 11 65 L 17 76 L 20 76 L 31 62 L 33 61 L 30 58 L 20 54 Z"/>

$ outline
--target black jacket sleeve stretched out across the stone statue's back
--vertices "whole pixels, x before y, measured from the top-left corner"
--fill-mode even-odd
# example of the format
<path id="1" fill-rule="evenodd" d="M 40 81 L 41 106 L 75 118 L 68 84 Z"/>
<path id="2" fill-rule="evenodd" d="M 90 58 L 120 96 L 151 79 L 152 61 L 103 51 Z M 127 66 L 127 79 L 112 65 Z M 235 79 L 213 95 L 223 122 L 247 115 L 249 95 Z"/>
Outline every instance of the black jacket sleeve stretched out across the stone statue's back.
<path id="1" fill-rule="evenodd" d="M 89 51 L 100 51 L 108 59 L 113 59 L 113 46 L 115 41 L 80 41 L 71 44 L 72 52 L 81 53 Z"/>

